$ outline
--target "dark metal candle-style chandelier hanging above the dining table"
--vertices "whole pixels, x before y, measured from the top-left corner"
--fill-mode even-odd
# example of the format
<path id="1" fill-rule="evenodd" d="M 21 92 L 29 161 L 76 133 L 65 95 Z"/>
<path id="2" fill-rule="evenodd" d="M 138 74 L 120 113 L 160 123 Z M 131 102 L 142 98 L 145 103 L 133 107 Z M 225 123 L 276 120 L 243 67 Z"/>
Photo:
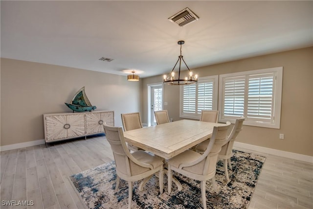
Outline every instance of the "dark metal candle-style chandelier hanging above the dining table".
<path id="1" fill-rule="evenodd" d="M 181 45 L 183 45 L 185 42 L 184 41 L 179 41 L 177 44 L 180 45 L 180 55 L 178 57 L 178 60 L 173 68 L 173 70 L 170 72 L 170 74 L 163 75 L 163 83 L 168 84 L 168 85 L 189 85 L 193 83 L 198 83 L 198 75 L 193 75 L 193 72 L 188 68 L 186 62 L 182 58 L 181 55 Z M 187 69 L 189 70 L 188 76 L 185 77 L 185 79 L 180 79 L 180 66 L 181 66 L 181 60 L 185 63 Z M 179 62 L 179 72 L 178 72 L 178 79 L 175 78 L 175 72 L 174 69 Z M 182 76 L 181 76 L 182 77 Z"/>

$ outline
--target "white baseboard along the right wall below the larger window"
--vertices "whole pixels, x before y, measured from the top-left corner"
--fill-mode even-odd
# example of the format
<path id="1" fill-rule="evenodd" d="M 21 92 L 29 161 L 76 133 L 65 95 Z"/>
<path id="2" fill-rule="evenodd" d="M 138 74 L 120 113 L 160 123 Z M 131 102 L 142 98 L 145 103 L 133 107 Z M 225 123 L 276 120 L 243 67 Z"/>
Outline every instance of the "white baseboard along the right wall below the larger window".
<path id="1" fill-rule="evenodd" d="M 267 148 L 267 147 L 256 146 L 256 145 L 252 145 L 252 144 L 246 144 L 246 143 L 241 143 L 241 142 L 235 141 L 234 148 L 236 149 L 236 147 L 244 148 L 244 149 L 250 149 L 253 151 L 257 151 L 257 152 L 264 152 L 267 154 L 276 155 L 276 156 L 280 156 L 280 157 L 291 158 L 291 159 L 298 160 L 298 161 L 313 163 L 313 156 L 309 156 L 309 155 L 302 155 L 302 154 L 297 154 L 297 153 L 293 153 L 293 152 L 286 152 L 286 151 L 282 151 L 282 150 L 271 149 L 271 148 Z"/>

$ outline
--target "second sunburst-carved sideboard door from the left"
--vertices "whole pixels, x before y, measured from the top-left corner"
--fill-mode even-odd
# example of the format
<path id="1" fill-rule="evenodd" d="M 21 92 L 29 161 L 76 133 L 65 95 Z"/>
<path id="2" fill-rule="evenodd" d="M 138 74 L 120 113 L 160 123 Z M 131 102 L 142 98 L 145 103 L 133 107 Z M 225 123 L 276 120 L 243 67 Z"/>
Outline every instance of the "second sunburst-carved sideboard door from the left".
<path id="1" fill-rule="evenodd" d="M 84 114 L 67 115 L 67 137 L 79 137 L 85 135 L 85 118 Z"/>

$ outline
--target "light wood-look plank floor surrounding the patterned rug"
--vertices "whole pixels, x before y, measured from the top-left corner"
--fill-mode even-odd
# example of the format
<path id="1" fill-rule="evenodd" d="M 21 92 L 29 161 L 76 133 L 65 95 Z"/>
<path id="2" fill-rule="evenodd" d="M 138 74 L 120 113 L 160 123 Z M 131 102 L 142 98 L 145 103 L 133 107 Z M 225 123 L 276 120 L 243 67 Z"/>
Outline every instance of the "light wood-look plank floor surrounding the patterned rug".
<path id="1" fill-rule="evenodd" d="M 1 209 L 82 209 L 68 177 L 113 159 L 110 144 L 103 136 L 0 154 Z M 312 163 L 256 154 L 265 156 L 266 162 L 249 209 L 313 209 Z M 3 206 L 2 201 L 7 200 L 34 201 L 34 205 Z"/>

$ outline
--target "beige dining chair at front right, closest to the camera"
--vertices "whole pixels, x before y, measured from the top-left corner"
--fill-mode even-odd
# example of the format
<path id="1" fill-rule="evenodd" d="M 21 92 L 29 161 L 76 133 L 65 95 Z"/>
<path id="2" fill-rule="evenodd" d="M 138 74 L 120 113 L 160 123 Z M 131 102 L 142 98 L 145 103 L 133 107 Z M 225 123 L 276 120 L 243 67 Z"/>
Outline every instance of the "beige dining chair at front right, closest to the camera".
<path id="1" fill-rule="evenodd" d="M 214 127 L 210 143 L 205 152 L 201 155 L 192 150 L 171 158 L 168 161 L 168 192 L 172 189 L 172 170 L 189 178 L 201 181 L 201 194 L 203 208 L 206 209 L 206 181 L 212 179 L 212 184 L 216 187 L 215 172 L 218 154 L 226 141 L 230 122 L 225 126 Z"/>

